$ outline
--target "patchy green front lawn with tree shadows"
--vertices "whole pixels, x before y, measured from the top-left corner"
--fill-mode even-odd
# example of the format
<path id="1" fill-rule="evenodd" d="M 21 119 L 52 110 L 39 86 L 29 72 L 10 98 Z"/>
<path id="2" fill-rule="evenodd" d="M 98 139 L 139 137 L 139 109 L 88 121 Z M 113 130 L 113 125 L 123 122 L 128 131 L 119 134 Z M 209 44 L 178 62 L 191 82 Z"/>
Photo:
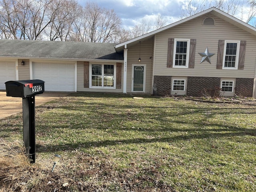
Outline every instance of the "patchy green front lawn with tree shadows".
<path id="1" fill-rule="evenodd" d="M 0 129 L 22 140 L 22 114 Z M 66 191 L 256 191 L 255 136 L 253 102 L 75 93 L 36 108 L 36 161 L 62 155 Z"/>

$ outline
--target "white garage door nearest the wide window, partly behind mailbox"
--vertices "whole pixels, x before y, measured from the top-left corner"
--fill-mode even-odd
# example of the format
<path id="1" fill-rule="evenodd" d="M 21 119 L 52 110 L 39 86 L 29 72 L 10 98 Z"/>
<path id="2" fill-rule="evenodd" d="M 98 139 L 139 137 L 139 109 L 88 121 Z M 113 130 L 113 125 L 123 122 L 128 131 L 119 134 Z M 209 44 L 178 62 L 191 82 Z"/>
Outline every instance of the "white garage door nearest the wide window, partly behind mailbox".
<path id="1" fill-rule="evenodd" d="M 43 80 L 45 91 L 75 91 L 74 63 L 33 62 L 33 79 Z"/>

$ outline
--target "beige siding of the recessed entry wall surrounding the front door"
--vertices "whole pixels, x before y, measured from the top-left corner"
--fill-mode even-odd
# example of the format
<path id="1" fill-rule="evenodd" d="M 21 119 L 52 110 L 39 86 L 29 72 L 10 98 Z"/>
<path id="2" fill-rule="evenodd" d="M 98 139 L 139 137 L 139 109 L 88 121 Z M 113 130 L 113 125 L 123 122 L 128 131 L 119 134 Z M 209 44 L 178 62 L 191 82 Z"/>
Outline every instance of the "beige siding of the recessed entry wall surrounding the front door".
<path id="1" fill-rule="evenodd" d="M 146 64 L 146 87 L 145 93 L 151 93 L 152 87 L 152 41 L 153 39 L 141 42 L 128 49 L 127 56 L 127 92 L 132 92 L 132 64 Z M 138 58 L 141 62 L 138 62 Z"/>

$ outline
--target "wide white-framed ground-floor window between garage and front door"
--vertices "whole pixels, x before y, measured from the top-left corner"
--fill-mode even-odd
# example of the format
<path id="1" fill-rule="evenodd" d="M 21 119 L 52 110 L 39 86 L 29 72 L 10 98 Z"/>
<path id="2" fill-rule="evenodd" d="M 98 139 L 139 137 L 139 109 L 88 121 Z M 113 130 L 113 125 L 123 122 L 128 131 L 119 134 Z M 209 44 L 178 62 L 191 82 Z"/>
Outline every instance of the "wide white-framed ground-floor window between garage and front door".
<path id="1" fill-rule="evenodd" d="M 92 88 L 115 88 L 115 65 L 91 64 L 91 87 Z"/>

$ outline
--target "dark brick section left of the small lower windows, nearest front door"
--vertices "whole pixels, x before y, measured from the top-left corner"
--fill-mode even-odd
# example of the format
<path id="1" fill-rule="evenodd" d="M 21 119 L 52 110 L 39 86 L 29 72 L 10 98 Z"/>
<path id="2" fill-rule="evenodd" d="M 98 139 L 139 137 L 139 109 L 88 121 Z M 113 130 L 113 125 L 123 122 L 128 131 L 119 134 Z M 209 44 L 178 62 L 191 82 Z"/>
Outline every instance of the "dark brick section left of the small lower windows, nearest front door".
<path id="1" fill-rule="evenodd" d="M 170 95 L 172 90 L 172 77 L 154 76 L 154 86 L 156 87 L 156 94 Z"/>

